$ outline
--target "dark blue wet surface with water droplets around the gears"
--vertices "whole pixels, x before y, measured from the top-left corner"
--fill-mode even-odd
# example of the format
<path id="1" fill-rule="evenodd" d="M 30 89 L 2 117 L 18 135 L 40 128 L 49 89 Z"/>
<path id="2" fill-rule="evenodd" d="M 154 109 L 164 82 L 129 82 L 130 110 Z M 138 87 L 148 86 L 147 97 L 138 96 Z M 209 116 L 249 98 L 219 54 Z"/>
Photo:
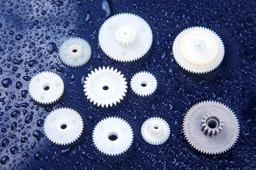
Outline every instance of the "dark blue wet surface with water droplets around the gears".
<path id="1" fill-rule="evenodd" d="M 256 2 L 108 0 L 108 4 L 110 14 L 102 10 L 102 0 L 1 0 L 0 158 L 8 156 L 9 161 L 1 162 L 6 164 L 0 169 L 256 169 Z M 144 18 L 153 32 L 150 51 L 136 62 L 113 61 L 99 48 L 100 26 L 120 12 Z M 210 28 L 224 42 L 224 60 L 208 74 L 191 74 L 174 61 L 172 43 L 191 26 Z M 69 68 L 58 59 L 57 48 L 76 36 L 90 43 L 92 56 L 85 66 Z M 142 98 L 128 86 L 121 104 L 97 108 L 84 96 L 83 79 L 103 65 L 120 70 L 128 84 L 136 72 L 150 71 L 157 77 L 157 91 Z M 64 81 L 64 94 L 54 105 L 40 105 L 28 94 L 29 80 L 41 71 L 55 71 Z M 182 133 L 184 114 L 203 100 L 223 102 L 240 122 L 238 142 L 218 156 L 192 149 Z M 44 136 L 44 119 L 59 107 L 75 109 L 84 120 L 79 141 L 69 146 L 51 144 Z M 93 128 L 107 116 L 127 120 L 134 130 L 134 142 L 121 156 L 102 155 L 93 145 Z M 169 139 L 160 146 L 146 143 L 140 134 L 142 123 L 151 116 L 162 117 L 171 127 Z"/>

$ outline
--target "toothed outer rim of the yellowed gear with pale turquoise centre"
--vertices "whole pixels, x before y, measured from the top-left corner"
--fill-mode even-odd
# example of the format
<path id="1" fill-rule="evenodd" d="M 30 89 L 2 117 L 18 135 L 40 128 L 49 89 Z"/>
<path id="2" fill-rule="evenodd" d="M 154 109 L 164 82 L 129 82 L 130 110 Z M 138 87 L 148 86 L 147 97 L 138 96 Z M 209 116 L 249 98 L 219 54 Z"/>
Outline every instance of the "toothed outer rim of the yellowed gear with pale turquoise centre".
<path id="1" fill-rule="evenodd" d="M 188 30 L 190 30 L 190 29 L 195 29 L 195 28 L 201 28 L 201 29 L 205 29 L 205 30 L 207 30 L 207 31 L 210 31 L 212 34 L 214 34 L 214 35 L 218 38 L 218 40 L 220 40 L 221 46 L 223 47 L 223 51 L 221 51 L 221 56 L 222 56 L 221 60 L 219 60 L 218 63 L 215 64 L 215 66 L 212 67 L 212 68 L 209 69 L 209 70 L 202 70 L 202 71 L 189 70 L 188 68 L 186 68 L 186 66 L 184 66 L 182 63 L 180 63 L 180 62 L 178 61 L 178 58 L 177 58 L 178 55 L 177 55 L 177 51 L 175 50 L 175 45 L 174 45 L 175 42 L 177 42 L 178 38 L 179 38 L 182 34 L 184 34 L 186 31 L 188 31 Z M 175 38 L 175 40 L 174 40 L 174 42 L 173 42 L 173 45 L 172 45 L 172 52 L 173 52 L 173 57 L 174 57 L 175 61 L 177 62 L 177 64 L 178 64 L 181 68 L 183 68 L 183 69 L 186 70 L 186 71 L 189 71 L 190 73 L 194 73 L 194 74 L 204 74 L 204 73 L 208 73 L 208 72 L 213 71 L 215 68 L 217 68 L 217 67 L 221 64 L 221 62 L 222 62 L 222 60 L 223 60 L 223 57 L 224 57 L 225 48 L 224 48 L 224 44 L 223 44 L 223 41 L 221 40 L 220 36 L 219 36 L 218 34 L 216 34 L 214 31 L 212 31 L 212 30 L 209 29 L 209 28 L 202 27 L 202 26 L 193 26 L 193 27 L 189 27 L 189 28 L 184 29 L 183 31 L 181 31 L 181 32 L 177 35 L 177 37 Z"/>

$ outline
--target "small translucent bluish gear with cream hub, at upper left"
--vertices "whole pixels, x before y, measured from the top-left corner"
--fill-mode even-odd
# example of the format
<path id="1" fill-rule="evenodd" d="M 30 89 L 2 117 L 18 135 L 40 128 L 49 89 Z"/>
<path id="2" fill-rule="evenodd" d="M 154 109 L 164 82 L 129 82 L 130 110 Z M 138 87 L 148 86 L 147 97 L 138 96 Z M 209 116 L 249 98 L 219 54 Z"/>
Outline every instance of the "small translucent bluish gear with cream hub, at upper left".
<path id="1" fill-rule="evenodd" d="M 64 65 L 76 68 L 86 64 L 91 53 L 91 47 L 87 41 L 80 37 L 72 37 L 61 44 L 59 58 Z"/>

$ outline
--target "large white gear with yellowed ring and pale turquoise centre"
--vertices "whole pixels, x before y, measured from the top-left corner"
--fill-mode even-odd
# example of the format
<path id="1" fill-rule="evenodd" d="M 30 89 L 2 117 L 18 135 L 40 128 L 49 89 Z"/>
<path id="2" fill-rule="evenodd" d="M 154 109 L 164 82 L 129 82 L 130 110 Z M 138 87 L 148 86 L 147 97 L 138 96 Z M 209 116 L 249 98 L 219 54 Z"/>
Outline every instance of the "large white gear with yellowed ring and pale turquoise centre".
<path id="1" fill-rule="evenodd" d="M 214 31 L 204 27 L 190 27 L 176 37 L 172 52 L 183 69 L 203 74 L 220 65 L 225 49 L 221 38 Z"/>

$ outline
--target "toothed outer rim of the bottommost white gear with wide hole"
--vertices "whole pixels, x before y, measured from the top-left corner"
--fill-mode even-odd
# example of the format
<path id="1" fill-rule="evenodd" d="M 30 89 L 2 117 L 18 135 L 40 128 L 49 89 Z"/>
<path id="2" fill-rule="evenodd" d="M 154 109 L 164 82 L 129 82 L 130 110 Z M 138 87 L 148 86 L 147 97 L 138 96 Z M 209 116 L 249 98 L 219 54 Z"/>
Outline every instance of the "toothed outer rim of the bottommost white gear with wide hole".
<path id="1" fill-rule="evenodd" d="M 130 143 L 128 144 L 128 146 L 125 147 L 124 150 L 122 150 L 122 151 L 119 152 L 119 153 L 108 153 L 108 152 L 102 150 L 102 146 L 99 146 L 98 144 L 96 144 L 96 143 L 97 143 L 97 142 L 96 142 L 96 138 L 97 138 L 96 130 L 97 130 L 97 127 L 98 127 L 101 123 L 104 123 L 105 121 L 108 121 L 108 119 L 119 119 L 119 120 L 121 120 L 122 122 L 125 122 L 125 124 L 127 125 L 126 128 L 131 129 L 131 134 L 132 134 L 132 136 L 131 136 L 131 141 L 130 141 Z M 108 128 L 108 127 L 106 127 L 106 128 Z M 114 116 L 114 117 L 111 116 L 111 117 L 107 117 L 107 118 L 102 119 L 101 121 L 99 121 L 99 122 L 97 123 L 97 125 L 94 127 L 94 130 L 93 130 L 93 144 L 95 145 L 95 147 L 96 147 L 101 153 L 103 153 L 103 154 L 105 154 L 105 155 L 108 155 L 108 156 L 118 156 L 118 155 L 120 155 L 120 154 L 122 154 L 122 153 L 125 153 L 125 152 L 131 147 L 131 144 L 132 144 L 132 142 L 133 142 L 133 137 L 134 137 L 134 136 L 133 136 L 133 130 L 132 130 L 131 126 L 128 124 L 128 122 L 126 122 L 124 119 L 121 119 L 121 118 L 116 117 L 116 116 Z M 126 141 L 126 142 L 127 142 L 127 141 Z M 129 142 L 129 141 L 128 141 L 128 142 Z"/>

